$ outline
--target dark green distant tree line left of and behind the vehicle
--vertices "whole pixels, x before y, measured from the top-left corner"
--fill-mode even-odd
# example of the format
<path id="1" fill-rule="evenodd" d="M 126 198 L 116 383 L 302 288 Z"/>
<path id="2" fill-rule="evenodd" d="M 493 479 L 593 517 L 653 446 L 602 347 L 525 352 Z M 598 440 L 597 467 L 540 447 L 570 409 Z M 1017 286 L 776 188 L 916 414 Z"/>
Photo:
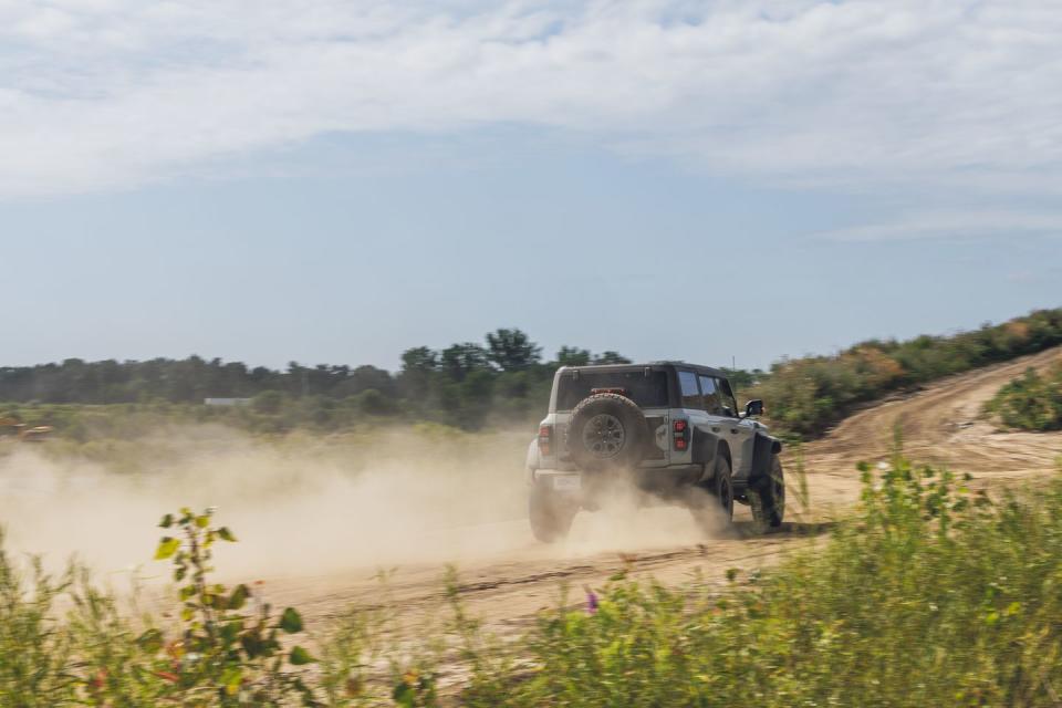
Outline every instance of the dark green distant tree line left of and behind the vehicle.
<path id="1" fill-rule="evenodd" d="M 251 367 L 189 356 L 184 360 L 86 362 L 67 358 L 37 366 L 0 367 L 0 400 L 38 404 L 201 404 L 208 397 L 250 398 L 263 415 L 298 405 L 313 419 L 334 418 L 340 403 L 366 415 L 409 413 L 462 427 L 488 415 L 525 418 L 543 407 L 553 372 L 562 365 L 618 364 L 616 352 L 593 354 L 562 346 L 551 360 L 519 329 L 499 329 L 482 342 L 441 350 L 417 346 L 392 373 L 372 365 L 289 363 Z"/>

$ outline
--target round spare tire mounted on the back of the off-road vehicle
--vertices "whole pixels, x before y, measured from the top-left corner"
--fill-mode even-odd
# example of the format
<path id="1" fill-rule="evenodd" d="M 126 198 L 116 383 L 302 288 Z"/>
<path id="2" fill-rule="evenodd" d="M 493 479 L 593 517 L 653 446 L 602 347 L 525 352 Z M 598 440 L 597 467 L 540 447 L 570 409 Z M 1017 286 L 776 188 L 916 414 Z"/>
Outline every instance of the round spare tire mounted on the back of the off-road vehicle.
<path id="1" fill-rule="evenodd" d="M 568 451 L 584 470 L 634 467 L 645 455 L 647 436 L 636 403 L 620 394 L 594 394 L 572 409 Z"/>

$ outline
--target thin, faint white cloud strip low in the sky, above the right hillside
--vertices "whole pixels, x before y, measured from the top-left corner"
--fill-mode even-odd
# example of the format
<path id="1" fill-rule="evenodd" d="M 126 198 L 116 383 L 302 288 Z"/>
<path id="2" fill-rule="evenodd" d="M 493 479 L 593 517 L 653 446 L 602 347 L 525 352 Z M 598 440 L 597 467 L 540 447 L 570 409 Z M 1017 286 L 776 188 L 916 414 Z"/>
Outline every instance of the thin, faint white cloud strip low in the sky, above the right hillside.
<path id="1" fill-rule="evenodd" d="M 977 238 L 1009 235 L 1062 237 L 1062 211 L 937 210 L 905 214 L 885 223 L 820 233 L 835 241 L 886 241 L 927 238 Z"/>

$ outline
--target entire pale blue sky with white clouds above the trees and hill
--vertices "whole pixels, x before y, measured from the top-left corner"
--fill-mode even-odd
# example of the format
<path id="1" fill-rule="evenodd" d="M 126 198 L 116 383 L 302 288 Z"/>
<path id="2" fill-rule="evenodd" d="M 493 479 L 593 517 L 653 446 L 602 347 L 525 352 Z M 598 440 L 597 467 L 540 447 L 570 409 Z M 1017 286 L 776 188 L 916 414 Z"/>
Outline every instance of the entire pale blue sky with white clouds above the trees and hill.
<path id="1" fill-rule="evenodd" d="M 767 366 L 1062 305 L 1052 2 L 0 0 L 0 365 Z"/>

